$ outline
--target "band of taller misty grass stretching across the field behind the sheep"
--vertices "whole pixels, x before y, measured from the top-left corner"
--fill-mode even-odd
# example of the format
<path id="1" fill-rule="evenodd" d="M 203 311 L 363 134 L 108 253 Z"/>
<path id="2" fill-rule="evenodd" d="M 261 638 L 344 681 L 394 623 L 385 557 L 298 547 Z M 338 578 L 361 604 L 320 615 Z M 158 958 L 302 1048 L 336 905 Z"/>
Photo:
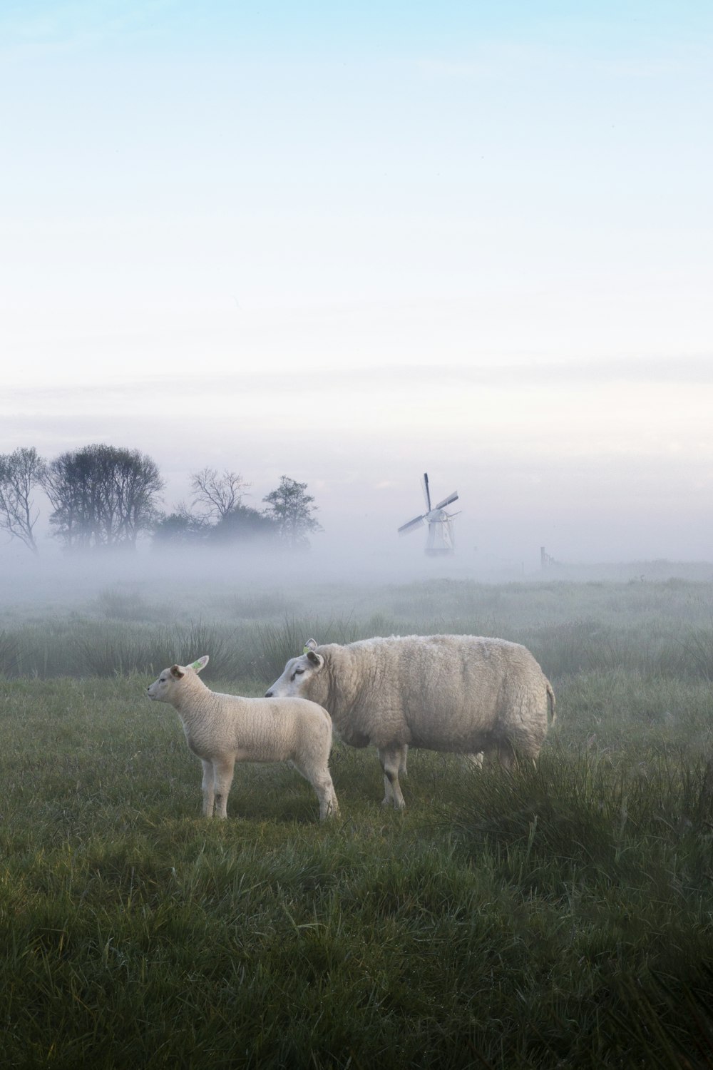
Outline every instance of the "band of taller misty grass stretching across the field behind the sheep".
<path id="1" fill-rule="evenodd" d="M 283 617 L 236 624 L 187 620 L 91 620 L 72 616 L 7 627 L 0 632 L 0 674 L 9 677 L 155 673 L 172 661 L 210 654 L 229 679 L 274 679 L 289 658 L 300 654 L 307 639 L 348 643 L 382 635 L 455 632 L 498 635 L 522 642 L 557 678 L 582 672 L 627 672 L 647 678 L 713 681 L 713 624 L 648 627 L 574 620 L 568 624 L 485 629 L 478 621 L 404 621 L 373 613 L 331 617 Z"/>

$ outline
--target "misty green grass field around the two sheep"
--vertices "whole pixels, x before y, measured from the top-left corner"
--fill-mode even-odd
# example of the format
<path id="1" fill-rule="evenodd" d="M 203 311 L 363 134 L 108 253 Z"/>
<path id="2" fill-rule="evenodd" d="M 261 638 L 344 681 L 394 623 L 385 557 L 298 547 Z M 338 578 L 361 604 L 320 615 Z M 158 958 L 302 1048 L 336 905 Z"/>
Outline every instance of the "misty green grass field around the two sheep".
<path id="1" fill-rule="evenodd" d="M 5 621 L 2 1065 L 713 1066 L 711 585 L 350 598 L 227 594 L 169 626 L 111 590 Z M 532 648 L 558 708 L 537 769 L 416 751 L 397 813 L 338 745 L 338 821 L 282 766 L 199 816 L 154 671 L 207 653 L 210 686 L 259 694 L 305 632 L 406 630 Z"/>

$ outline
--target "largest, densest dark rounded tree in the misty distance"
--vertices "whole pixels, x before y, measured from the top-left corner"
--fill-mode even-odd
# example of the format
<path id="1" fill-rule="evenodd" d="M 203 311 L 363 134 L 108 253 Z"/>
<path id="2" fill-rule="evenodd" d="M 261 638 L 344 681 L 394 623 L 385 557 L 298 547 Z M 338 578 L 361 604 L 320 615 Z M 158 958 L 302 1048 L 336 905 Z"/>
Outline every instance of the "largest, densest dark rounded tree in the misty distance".
<path id="1" fill-rule="evenodd" d="M 164 480 L 138 449 L 92 445 L 55 458 L 44 487 L 55 509 L 49 522 L 67 549 L 135 547 L 158 518 Z"/>

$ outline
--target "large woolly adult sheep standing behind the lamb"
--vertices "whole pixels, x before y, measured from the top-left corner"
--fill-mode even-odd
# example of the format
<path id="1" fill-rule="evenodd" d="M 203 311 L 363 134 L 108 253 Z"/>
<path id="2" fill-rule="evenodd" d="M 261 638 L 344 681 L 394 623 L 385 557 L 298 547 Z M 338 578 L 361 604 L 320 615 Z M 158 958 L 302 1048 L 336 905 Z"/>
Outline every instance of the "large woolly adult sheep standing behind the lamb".
<path id="1" fill-rule="evenodd" d="M 391 636 L 319 646 L 310 639 L 266 698 L 301 697 L 328 709 L 353 747 L 377 748 L 384 802 L 403 809 L 407 747 L 536 759 L 555 720 L 555 693 L 526 647 L 478 636 Z"/>

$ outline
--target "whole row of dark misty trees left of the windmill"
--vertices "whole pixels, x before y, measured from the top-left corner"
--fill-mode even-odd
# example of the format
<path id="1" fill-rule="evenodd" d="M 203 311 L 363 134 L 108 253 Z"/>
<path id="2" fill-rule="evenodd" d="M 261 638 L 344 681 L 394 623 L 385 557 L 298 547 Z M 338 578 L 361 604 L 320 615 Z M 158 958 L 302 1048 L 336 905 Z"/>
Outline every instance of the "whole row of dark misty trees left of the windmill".
<path id="1" fill-rule="evenodd" d="M 263 498 L 263 508 L 243 501 L 250 484 L 241 473 L 204 468 L 190 473 L 190 505 L 160 508 L 165 482 L 158 465 L 138 449 L 104 444 L 71 449 L 53 460 L 21 446 L 0 454 L 0 530 L 38 553 L 37 490 L 49 500 L 52 535 L 64 549 L 135 549 L 141 536 L 154 547 L 227 546 L 260 539 L 304 549 L 322 531 L 307 484 L 283 475 Z"/>

